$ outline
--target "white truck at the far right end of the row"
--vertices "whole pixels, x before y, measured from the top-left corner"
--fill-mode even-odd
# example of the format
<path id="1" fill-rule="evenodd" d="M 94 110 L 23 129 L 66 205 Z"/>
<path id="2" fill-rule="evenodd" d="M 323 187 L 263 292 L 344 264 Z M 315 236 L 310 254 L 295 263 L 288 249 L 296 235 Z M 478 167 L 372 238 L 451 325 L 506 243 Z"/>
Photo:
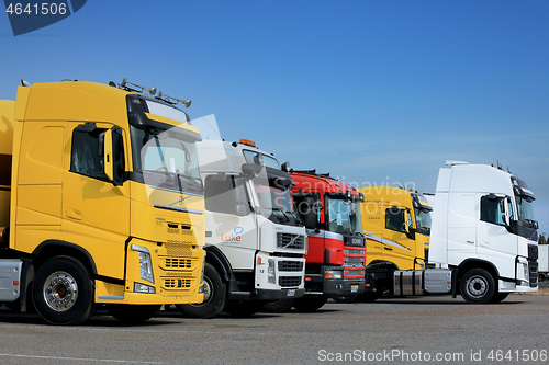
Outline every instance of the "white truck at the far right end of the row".
<path id="1" fill-rule="evenodd" d="M 460 294 L 468 303 L 484 304 L 504 300 L 509 293 L 537 292 L 534 193 L 501 168 L 447 164 L 440 169 L 433 207 L 428 263 L 435 269 L 388 270 L 391 293 Z M 399 224 L 410 231 L 410 216 L 401 216 Z M 374 275 L 367 273 L 368 282 L 376 288 Z"/>

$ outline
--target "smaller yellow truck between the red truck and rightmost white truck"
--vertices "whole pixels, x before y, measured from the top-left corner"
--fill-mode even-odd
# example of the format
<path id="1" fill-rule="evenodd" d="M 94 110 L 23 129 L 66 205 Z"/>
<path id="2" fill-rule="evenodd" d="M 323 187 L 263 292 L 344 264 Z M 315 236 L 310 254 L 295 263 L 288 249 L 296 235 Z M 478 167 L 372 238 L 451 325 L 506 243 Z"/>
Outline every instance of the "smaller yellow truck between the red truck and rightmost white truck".
<path id="1" fill-rule="evenodd" d="M 367 238 L 366 273 L 374 278 L 358 299 L 372 301 L 392 289 L 393 271 L 426 267 L 433 207 L 415 190 L 385 185 L 358 191 L 365 195 L 360 209 Z"/>

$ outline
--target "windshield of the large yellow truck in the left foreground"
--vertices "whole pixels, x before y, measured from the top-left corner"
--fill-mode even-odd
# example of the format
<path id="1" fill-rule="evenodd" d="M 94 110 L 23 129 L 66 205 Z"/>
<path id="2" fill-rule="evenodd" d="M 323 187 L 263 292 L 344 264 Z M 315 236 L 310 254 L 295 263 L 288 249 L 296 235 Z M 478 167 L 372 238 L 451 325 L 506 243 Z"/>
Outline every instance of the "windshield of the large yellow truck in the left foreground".
<path id="1" fill-rule="evenodd" d="M 152 126 L 131 126 L 134 171 L 158 189 L 202 194 L 195 140 L 176 132 Z"/>

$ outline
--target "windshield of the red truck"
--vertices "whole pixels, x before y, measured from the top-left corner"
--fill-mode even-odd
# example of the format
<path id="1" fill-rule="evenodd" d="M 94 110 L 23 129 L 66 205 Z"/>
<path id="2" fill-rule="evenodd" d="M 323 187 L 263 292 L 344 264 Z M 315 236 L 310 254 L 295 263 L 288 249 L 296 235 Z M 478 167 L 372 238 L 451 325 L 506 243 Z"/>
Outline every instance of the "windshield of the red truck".
<path id="1" fill-rule="evenodd" d="M 328 230 L 343 235 L 362 232 L 362 218 L 358 203 L 344 199 L 327 199 Z"/>

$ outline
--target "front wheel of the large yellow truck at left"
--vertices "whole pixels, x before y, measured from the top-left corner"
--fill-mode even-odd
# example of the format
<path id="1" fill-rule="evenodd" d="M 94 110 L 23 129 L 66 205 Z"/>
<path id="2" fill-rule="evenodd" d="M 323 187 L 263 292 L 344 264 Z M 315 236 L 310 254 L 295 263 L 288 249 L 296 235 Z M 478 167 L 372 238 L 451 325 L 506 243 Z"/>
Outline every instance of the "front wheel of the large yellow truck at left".
<path id="1" fill-rule="evenodd" d="M 93 282 L 76 259 L 46 261 L 36 272 L 32 293 L 36 311 L 52 324 L 80 324 L 93 316 Z"/>

